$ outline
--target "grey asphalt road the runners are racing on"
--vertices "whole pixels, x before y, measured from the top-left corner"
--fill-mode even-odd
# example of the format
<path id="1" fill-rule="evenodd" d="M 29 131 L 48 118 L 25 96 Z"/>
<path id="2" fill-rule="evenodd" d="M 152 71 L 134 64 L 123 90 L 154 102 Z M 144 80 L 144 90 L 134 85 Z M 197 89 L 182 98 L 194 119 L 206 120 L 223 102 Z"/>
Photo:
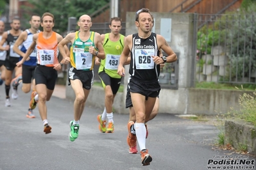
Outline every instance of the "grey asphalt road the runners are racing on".
<path id="1" fill-rule="evenodd" d="M 102 134 L 97 121 L 102 109 L 86 106 L 80 120 L 79 137 L 71 142 L 68 135 L 69 121 L 73 120 L 73 101 L 52 97 L 47 102 L 52 133 L 46 135 L 37 108 L 35 119 L 26 118 L 30 94 L 22 93 L 19 87 L 19 98 L 11 100 L 12 107 L 4 107 L 4 96 L 4 86 L 0 86 L 1 170 L 205 170 L 209 159 L 216 156 L 239 156 L 234 151 L 214 146 L 219 130 L 212 123 L 185 120 L 175 114 L 158 114 L 148 123 L 146 140 L 153 161 L 149 166 L 142 166 L 139 154 L 128 153 L 127 114 L 114 114 L 114 133 Z M 248 156 L 248 160 L 252 159 Z"/>

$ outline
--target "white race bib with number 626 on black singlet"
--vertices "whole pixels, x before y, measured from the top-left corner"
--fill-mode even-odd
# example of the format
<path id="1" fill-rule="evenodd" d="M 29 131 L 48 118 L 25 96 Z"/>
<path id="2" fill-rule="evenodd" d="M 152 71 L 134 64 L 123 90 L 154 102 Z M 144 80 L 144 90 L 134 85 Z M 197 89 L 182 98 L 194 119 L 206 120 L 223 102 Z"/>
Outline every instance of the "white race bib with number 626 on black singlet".
<path id="1" fill-rule="evenodd" d="M 155 56 L 154 49 L 135 49 L 135 65 L 139 70 L 153 69 L 154 61 L 151 56 Z"/>

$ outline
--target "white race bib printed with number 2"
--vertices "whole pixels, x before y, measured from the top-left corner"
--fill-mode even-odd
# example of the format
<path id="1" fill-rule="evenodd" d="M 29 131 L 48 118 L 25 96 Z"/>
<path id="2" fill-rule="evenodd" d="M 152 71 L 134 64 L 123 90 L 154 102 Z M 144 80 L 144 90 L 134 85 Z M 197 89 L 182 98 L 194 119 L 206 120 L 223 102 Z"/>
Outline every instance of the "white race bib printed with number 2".
<path id="1" fill-rule="evenodd" d="M 74 48 L 74 58 L 76 59 L 76 70 L 90 69 L 92 67 L 92 54 L 84 52 L 84 49 Z"/>

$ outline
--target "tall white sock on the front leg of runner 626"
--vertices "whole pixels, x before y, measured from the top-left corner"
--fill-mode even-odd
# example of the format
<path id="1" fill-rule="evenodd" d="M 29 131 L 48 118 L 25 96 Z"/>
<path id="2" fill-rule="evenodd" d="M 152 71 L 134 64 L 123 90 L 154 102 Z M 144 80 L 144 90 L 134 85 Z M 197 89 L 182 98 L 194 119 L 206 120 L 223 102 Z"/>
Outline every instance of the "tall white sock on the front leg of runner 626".
<path id="1" fill-rule="evenodd" d="M 146 127 L 144 123 L 135 123 L 136 137 L 141 150 L 146 149 Z"/>

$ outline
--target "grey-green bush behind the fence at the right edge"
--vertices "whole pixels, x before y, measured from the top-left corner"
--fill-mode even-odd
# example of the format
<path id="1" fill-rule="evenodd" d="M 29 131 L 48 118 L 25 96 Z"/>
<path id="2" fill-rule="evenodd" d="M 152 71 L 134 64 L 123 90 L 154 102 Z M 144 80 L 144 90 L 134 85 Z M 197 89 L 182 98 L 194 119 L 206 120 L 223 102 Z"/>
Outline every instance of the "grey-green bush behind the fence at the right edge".
<path id="1" fill-rule="evenodd" d="M 230 67 L 235 77 L 248 77 L 256 70 L 256 5 L 235 15 L 228 34 Z"/>

